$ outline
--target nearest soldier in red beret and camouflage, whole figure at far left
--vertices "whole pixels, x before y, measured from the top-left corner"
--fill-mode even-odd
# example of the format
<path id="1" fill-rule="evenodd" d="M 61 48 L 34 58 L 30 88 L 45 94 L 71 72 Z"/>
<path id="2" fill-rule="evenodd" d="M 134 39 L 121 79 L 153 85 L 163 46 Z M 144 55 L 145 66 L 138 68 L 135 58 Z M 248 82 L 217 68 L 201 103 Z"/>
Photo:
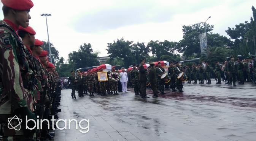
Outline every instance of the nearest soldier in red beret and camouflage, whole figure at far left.
<path id="1" fill-rule="evenodd" d="M 33 84 L 26 81 L 29 80 L 27 76 L 34 74 L 30 73 L 29 54 L 16 34 L 17 26 L 28 26 L 25 21 L 31 18 L 28 11 L 33 7 L 33 3 L 30 0 L 22 1 L 26 4 L 21 6 L 16 4 L 16 0 L 2 0 L 4 20 L 0 21 L 0 122 L 3 123 L 3 140 L 29 141 L 33 139 L 30 136 L 35 132 L 25 130 L 24 122 L 21 124 L 21 130 L 9 129 L 8 118 L 16 115 L 24 121 L 25 116 L 27 119 L 37 120 L 32 113 L 35 110 L 33 95 L 29 92 L 33 90 Z M 17 126 L 17 123 L 15 119 L 10 122 L 13 127 Z"/>

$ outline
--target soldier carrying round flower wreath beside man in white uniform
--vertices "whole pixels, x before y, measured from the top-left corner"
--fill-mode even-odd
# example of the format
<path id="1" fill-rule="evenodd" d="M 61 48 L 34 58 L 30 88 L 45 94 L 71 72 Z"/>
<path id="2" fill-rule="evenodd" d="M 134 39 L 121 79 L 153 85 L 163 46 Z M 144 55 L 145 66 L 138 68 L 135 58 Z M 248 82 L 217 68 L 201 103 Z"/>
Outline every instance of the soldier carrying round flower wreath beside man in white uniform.
<path id="1" fill-rule="evenodd" d="M 112 68 L 112 71 L 109 76 L 109 82 L 111 85 L 111 91 L 114 91 L 113 95 L 118 95 L 118 81 L 120 81 L 120 75 L 116 72 L 115 68 Z"/>

